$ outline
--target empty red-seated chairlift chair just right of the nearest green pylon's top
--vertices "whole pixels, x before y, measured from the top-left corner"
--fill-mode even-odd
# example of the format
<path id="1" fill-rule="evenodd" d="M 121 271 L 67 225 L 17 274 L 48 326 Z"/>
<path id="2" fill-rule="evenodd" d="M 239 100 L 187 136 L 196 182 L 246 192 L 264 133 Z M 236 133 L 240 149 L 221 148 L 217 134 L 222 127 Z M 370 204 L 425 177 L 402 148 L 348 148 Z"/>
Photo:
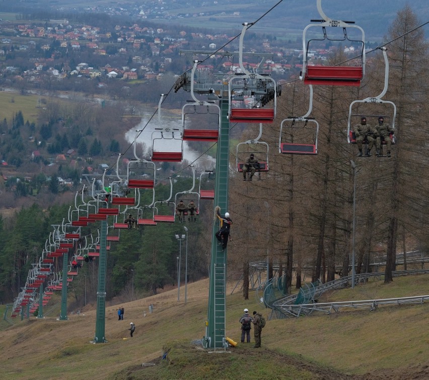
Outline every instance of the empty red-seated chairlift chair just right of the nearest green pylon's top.
<path id="1" fill-rule="evenodd" d="M 228 82 L 230 122 L 272 123 L 277 107 L 277 86 L 268 75 L 248 72 L 243 66 L 243 40 L 248 27 L 253 23 L 243 23 L 239 42 L 240 74 L 235 74 Z M 264 106 L 273 100 L 272 108 Z M 233 101 L 241 107 L 235 108 Z M 250 107 L 244 107 L 245 101 L 253 102 Z"/>

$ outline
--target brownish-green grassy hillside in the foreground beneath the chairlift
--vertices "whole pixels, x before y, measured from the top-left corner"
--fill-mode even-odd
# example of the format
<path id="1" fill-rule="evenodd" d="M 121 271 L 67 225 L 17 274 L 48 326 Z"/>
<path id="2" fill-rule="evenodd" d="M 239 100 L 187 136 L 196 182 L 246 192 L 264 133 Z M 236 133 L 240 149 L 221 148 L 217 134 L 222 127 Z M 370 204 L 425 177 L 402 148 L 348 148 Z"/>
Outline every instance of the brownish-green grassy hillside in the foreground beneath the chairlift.
<path id="1" fill-rule="evenodd" d="M 330 293 L 323 301 L 429 294 L 428 280 L 429 276 L 409 276 L 389 285 L 375 281 Z M 429 377 L 428 303 L 268 321 L 261 350 L 239 344 L 227 355 L 207 355 L 190 344 L 204 335 L 207 286 L 207 280 L 189 284 L 187 304 L 183 298 L 177 301 L 177 290 L 125 303 L 121 322 L 117 307 L 106 307 L 106 344 L 89 344 L 95 332 L 94 307 L 70 315 L 67 322 L 52 317 L 17 321 L 0 337 L 0 377 L 199 380 L 218 377 L 222 370 L 227 379 L 238 373 L 259 379 L 363 379 L 367 372 L 373 372 L 368 378 L 381 379 L 386 378 L 384 368 L 397 375 L 390 378 L 408 378 L 404 374 L 409 370 L 413 378 Z M 151 303 L 154 313 L 145 317 Z M 227 335 L 235 341 L 240 341 L 238 320 L 244 307 L 261 309 L 254 293 L 247 302 L 239 293 L 228 295 Z M 136 324 L 136 332 L 123 339 L 129 336 L 129 322 Z M 169 360 L 160 361 L 168 350 Z M 141 367 L 149 362 L 157 365 Z"/>

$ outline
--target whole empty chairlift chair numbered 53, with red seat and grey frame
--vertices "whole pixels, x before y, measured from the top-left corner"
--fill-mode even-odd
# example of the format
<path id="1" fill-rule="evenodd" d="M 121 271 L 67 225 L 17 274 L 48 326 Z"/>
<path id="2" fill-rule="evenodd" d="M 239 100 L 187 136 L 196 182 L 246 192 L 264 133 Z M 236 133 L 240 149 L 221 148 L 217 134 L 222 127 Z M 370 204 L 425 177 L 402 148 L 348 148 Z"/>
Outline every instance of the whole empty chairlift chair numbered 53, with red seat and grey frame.
<path id="1" fill-rule="evenodd" d="M 318 24 L 310 24 L 304 28 L 303 32 L 303 69 L 300 78 L 304 84 L 324 85 L 324 86 L 360 86 L 365 76 L 365 32 L 354 21 L 332 20 L 322 10 L 322 0 L 317 0 L 317 10 L 322 20 L 311 20 Z M 322 27 L 323 38 L 311 38 L 307 41 L 306 34 L 310 28 Z M 327 28 L 342 28 L 342 38 L 330 38 L 326 32 Z M 347 28 L 357 29 L 361 34 L 361 39 L 353 40 L 347 35 Z M 310 65 L 310 43 L 311 41 L 349 41 L 362 45 L 359 55 L 359 66 L 323 66 Z"/>

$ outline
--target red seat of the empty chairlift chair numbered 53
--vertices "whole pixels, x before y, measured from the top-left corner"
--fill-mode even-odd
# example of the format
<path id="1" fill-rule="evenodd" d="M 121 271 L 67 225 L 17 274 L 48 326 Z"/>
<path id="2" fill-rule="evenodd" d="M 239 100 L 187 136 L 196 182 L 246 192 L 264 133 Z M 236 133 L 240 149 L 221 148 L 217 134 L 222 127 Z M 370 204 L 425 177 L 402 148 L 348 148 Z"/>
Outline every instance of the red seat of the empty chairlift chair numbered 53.
<path id="1" fill-rule="evenodd" d="M 364 77 L 362 67 L 352 66 L 307 66 L 304 76 L 306 85 L 356 86 L 361 85 Z"/>

